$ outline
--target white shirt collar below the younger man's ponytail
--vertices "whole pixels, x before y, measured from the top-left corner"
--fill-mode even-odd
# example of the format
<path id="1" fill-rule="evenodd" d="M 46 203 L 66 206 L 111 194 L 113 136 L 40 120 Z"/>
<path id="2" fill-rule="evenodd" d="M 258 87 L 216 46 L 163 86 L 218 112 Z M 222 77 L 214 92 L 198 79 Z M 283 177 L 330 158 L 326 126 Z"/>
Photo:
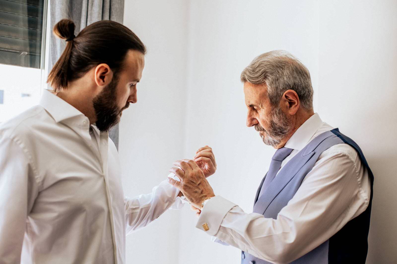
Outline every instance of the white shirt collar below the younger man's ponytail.
<path id="1" fill-rule="evenodd" d="M 71 104 L 46 89 L 44 89 L 41 95 L 40 105 L 47 110 L 57 123 L 75 116 L 85 117 L 82 112 L 74 108 Z"/>

